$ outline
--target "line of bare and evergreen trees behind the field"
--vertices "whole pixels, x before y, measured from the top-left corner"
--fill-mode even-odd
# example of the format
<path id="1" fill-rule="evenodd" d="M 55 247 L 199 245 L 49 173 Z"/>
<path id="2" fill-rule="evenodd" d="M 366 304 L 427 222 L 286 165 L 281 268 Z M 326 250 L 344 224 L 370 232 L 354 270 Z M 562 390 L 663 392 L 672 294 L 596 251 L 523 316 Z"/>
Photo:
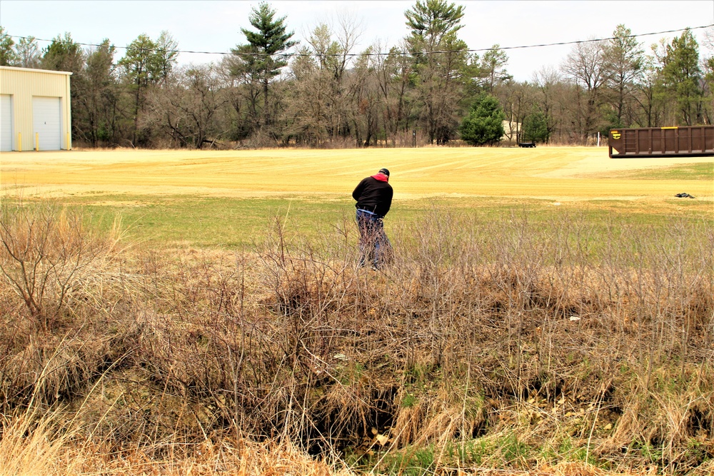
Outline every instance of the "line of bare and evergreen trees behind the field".
<path id="1" fill-rule="evenodd" d="M 514 81 L 498 44 L 478 55 L 459 38 L 464 9 L 417 0 L 397 45 L 356 51 L 352 16 L 298 42 L 263 2 L 244 43 L 186 66 L 169 31 L 139 35 L 116 59 L 109 39 L 83 48 L 65 33 L 40 49 L 0 26 L 0 65 L 70 71 L 74 143 L 93 147 L 588 144 L 610 128 L 711 123 L 714 57 L 689 29 L 647 52 L 619 24 L 612 39 L 575 44 L 560 68 Z"/>

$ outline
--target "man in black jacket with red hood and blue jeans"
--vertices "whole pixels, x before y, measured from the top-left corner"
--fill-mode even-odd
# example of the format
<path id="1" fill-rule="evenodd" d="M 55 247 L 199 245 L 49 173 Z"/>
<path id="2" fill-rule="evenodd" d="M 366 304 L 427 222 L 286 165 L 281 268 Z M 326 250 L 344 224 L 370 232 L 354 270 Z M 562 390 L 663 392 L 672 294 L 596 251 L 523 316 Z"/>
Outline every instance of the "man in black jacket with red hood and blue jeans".
<path id="1" fill-rule="evenodd" d="M 392 196 L 386 168 L 363 178 L 352 192 L 352 198 L 357 201 L 360 266 L 371 261 L 372 268 L 378 270 L 391 258 L 391 243 L 384 233 L 383 218 L 392 205 Z"/>

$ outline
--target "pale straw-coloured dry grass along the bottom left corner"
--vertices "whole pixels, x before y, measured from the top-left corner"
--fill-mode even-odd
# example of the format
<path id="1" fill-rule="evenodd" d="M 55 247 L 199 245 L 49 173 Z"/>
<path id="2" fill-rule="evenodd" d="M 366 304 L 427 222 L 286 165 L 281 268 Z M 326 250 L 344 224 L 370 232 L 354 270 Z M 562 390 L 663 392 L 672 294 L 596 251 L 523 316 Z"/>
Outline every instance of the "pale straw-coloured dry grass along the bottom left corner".
<path id="1" fill-rule="evenodd" d="M 69 427 L 67 426 L 69 424 Z M 0 439 L 2 476 L 216 475 L 348 476 L 291 445 L 229 438 L 187 446 L 173 442 L 156 458 L 151 443 L 117 450 L 87 437 L 89 428 L 61 412 L 20 413 L 4 422 Z M 91 435 L 91 431 L 89 432 Z"/>

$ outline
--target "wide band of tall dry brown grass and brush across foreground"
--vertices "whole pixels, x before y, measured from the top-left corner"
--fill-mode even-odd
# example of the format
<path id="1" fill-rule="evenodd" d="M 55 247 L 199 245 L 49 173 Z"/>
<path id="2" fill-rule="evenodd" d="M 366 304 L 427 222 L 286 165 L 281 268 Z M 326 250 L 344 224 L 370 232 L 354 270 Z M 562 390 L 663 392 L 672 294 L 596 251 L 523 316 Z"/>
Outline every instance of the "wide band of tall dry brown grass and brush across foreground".
<path id="1" fill-rule="evenodd" d="M 3 213 L 0 404 L 47 425 L 67 474 L 712 470 L 708 221 L 435 209 L 391 229 L 394 263 L 374 273 L 349 220 L 318 240 L 275 223 L 228 253 L 118 248 L 81 215 Z M 27 263 L 51 284 L 43 313 Z M 42 416 L 60 407 L 64 440 Z"/>

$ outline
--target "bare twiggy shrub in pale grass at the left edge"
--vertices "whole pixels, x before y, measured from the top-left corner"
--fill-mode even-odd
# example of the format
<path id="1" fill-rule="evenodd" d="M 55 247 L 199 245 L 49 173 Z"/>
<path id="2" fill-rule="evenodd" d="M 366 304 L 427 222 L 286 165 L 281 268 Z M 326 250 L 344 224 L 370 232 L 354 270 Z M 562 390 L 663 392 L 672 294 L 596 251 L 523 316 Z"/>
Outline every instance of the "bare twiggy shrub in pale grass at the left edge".
<path id="1" fill-rule="evenodd" d="M 81 211 L 51 204 L 4 202 L 0 208 L 0 272 L 21 298 L 29 319 L 43 330 L 83 308 L 101 310 L 116 300 L 102 293 L 116 275 L 119 224 L 104 236 L 87 226 Z M 111 286 L 110 286 L 111 287 Z"/>

